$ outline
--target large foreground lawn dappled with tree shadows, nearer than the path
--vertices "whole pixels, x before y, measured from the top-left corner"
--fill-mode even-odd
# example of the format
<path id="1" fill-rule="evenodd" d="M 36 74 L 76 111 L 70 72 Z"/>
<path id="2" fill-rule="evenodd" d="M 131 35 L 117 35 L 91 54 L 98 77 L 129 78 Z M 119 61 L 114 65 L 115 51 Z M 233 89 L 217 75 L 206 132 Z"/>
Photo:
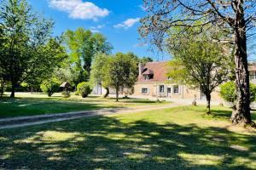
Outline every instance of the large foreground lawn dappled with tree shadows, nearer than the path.
<path id="1" fill-rule="evenodd" d="M 230 126 L 229 109 L 212 109 L 212 116 L 187 106 L 2 130 L 0 169 L 255 169 L 256 131 Z"/>

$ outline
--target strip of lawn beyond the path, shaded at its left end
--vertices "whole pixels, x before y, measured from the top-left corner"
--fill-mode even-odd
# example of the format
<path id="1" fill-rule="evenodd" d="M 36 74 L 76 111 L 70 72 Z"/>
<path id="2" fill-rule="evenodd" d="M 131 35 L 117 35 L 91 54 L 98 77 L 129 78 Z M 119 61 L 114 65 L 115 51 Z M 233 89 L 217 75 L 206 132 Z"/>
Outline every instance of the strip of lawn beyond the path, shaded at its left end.
<path id="1" fill-rule="evenodd" d="M 0 99 L 0 118 L 13 116 L 34 116 L 42 114 L 65 113 L 70 111 L 90 111 L 113 107 L 134 107 L 139 105 L 163 105 L 167 102 L 156 102 L 148 99 L 120 99 L 90 96 L 82 99 L 72 95 L 63 98 L 61 94 L 48 97 L 46 94 L 18 93 L 15 99 Z"/>

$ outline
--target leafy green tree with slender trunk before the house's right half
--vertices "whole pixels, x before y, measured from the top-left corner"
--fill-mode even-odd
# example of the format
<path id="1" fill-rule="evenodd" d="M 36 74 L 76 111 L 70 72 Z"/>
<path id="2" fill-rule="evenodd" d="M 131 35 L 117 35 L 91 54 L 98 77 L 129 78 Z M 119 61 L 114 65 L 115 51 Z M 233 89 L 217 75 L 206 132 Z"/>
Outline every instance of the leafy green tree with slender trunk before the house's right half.
<path id="1" fill-rule="evenodd" d="M 167 48 L 173 54 L 168 77 L 173 82 L 199 88 L 207 99 L 207 114 L 211 113 L 211 94 L 227 81 L 232 64 L 229 54 L 224 52 L 227 47 L 212 41 L 211 35 L 211 31 L 195 36 L 194 29 L 177 29 L 167 39 Z"/>

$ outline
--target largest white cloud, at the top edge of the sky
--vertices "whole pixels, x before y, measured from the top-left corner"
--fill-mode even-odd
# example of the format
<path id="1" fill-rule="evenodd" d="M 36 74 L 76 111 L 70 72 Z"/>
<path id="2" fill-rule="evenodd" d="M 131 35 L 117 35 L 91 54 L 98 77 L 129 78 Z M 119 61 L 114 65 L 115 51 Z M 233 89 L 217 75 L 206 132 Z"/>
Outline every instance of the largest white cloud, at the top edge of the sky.
<path id="1" fill-rule="evenodd" d="M 48 0 L 50 8 L 67 12 L 72 19 L 98 20 L 109 14 L 107 8 L 99 8 L 94 3 L 82 0 Z"/>

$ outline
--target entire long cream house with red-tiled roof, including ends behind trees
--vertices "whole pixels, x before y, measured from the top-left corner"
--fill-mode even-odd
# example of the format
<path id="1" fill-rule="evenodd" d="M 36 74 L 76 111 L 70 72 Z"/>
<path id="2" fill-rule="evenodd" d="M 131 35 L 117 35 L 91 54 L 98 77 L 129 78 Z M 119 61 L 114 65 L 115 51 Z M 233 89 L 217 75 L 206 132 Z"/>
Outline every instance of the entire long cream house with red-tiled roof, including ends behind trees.
<path id="1" fill-rule="evenodd" d="M 133 95 L 140 98 L 169 98 L 169 99 L 206 99 L 200 89 L 191 89 L 186 85 L 172 83 L 166 76 L 168 71 L 167 61 L 148 62 L 138 65 L 138 78 L 133 89 L 121 88 L 119 94 Z M 256 84 L 256 63 L 248 65 L 250 81 Z M 115 94 L 115 89 L 110 88 L 109 94 Z M 100 85 L 93 88 L 91 94 L 102 95 L 106 89 Z M 219 88 L 212 92 L 212 100 L 222 101 Z"/>

